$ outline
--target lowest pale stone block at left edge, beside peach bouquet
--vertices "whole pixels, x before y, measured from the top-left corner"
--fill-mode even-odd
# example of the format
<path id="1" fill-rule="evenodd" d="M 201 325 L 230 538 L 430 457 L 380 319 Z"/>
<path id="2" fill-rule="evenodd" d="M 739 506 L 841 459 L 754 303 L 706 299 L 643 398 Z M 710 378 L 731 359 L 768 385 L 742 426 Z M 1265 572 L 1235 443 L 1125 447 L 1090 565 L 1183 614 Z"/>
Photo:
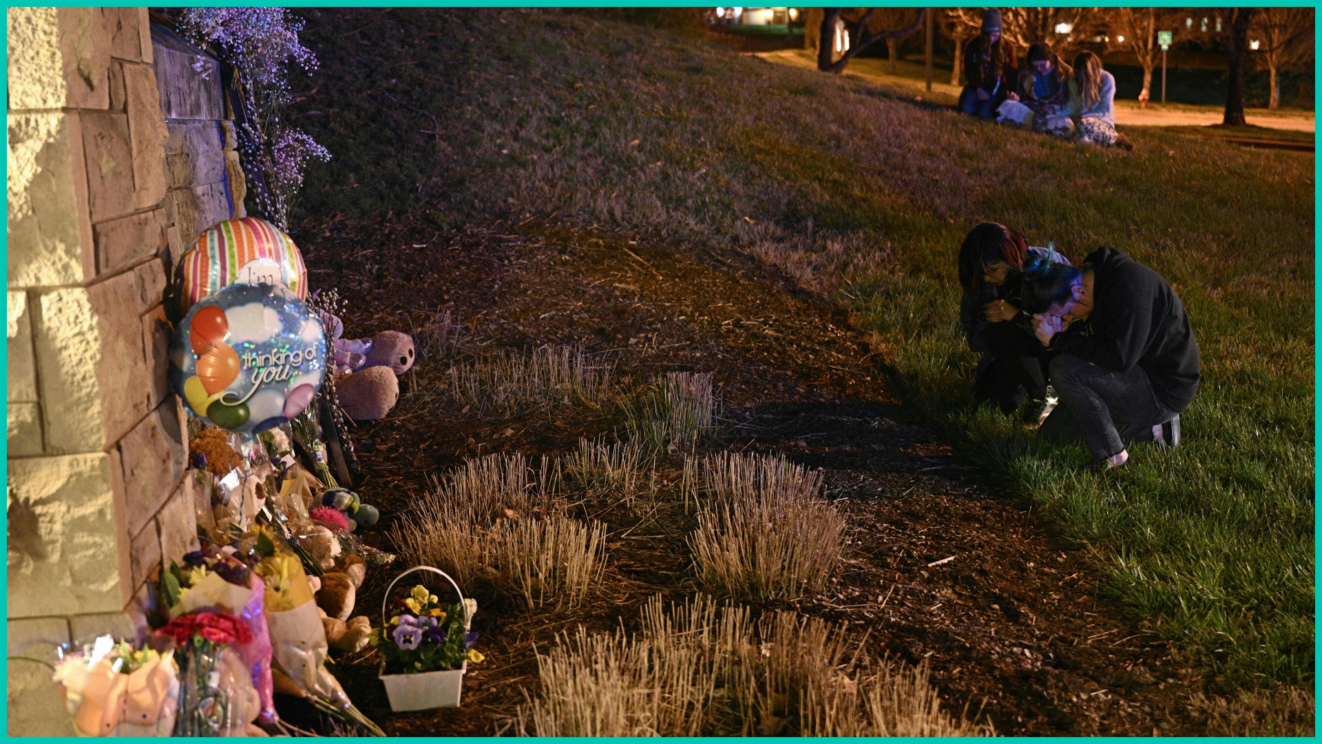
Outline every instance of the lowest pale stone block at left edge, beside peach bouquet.
<path id="1" fill-rule="evenodd" d="M 7 733 L 73 736 L 73 719 L 50 680 L 50 669 L 40 663 L 54 659 L 56 647 L 70 641 L 69 622 L 62 617 L 11 620 L 5 630 L 11 657 L 5 684 Z"/>

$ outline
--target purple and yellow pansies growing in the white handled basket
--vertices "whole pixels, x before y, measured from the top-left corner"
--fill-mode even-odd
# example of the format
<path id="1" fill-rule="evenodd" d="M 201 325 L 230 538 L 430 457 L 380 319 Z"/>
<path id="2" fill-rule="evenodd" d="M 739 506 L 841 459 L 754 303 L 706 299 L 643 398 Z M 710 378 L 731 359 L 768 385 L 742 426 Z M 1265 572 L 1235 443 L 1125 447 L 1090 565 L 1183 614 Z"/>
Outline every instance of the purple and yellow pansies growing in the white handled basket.
<path id="1" fill-rule="evenodd" d="M 386 658 L 386 674 L 447 671 L 463 663 L 477 663 L 483 654 L 473 649 L 477 633 L 465 630 L 464 605 L 442 605 L 422 584 L 403 600 L 395 600 L 399 614 L 385 628 L 371 630 L 371 645 Z"/>

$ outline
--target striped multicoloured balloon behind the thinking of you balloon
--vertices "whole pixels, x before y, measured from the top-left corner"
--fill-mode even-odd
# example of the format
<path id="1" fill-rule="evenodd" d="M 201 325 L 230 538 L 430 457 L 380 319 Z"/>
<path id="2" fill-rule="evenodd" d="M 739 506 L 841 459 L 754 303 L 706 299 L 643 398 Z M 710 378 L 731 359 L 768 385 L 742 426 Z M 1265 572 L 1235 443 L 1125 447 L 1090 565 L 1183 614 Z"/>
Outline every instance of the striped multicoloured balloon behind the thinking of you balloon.
<path id="1" fill-rule="evenodd" d="M 308 297 L 308 270 L 303 254 L 283 230 L 258 217 L 225 220 L 212 225 L 193 241 L 180 261 L 184 311 L 209 294 L 234 283 L 239 269 L 250 261 L 270 258 L 280 266 L 284 286 L 299 299 Z"/>

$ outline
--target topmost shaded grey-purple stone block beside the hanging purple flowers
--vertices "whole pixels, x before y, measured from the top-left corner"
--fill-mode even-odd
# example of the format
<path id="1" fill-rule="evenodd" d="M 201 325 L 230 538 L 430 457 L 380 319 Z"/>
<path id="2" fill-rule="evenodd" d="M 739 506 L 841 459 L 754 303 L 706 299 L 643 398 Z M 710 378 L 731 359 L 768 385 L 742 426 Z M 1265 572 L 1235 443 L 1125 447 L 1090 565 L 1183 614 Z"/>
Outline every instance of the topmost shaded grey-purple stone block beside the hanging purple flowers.
<path id="1" fill-rule="evenodd" d="M 223 119 L 219 64 L 171 29 L 152 24 L 152 54 L 167 119 Z"/>

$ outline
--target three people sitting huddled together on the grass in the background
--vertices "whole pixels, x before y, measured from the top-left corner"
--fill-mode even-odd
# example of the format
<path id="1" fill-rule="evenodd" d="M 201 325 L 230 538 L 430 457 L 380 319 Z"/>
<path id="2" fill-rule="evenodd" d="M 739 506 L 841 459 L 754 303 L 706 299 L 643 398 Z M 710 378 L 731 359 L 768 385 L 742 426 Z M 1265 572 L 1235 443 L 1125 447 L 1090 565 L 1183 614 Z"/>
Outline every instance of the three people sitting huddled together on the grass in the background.
<path id="1" fill-rule="evenodd" d="M 1080 52 L 1071 69 L 1038 42 L 1021 73 L 1014 44 L 1001 28 L 1001 11 L 982 13 L 982 33 L 964 53 L 961 113 L 1104 147 L 1133 147 L 1116 131 L 1116 78 L 1101 69 L 1101 58 Z"/>

